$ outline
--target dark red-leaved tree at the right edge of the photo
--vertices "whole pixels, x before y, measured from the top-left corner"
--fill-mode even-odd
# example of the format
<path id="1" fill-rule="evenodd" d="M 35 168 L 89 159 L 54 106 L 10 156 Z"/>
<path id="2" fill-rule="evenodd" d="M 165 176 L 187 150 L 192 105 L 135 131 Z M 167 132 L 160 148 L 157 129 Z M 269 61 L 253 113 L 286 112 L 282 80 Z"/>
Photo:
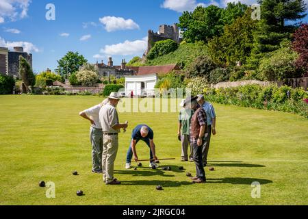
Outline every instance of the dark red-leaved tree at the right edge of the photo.
<path id="1" fill-rule="evenodd" d="M 308 24 L 305 23 L 296 29 L 293 34 L 292 49 L 299 55 L 296 66 L 305 71 L 308 76 Z"/>

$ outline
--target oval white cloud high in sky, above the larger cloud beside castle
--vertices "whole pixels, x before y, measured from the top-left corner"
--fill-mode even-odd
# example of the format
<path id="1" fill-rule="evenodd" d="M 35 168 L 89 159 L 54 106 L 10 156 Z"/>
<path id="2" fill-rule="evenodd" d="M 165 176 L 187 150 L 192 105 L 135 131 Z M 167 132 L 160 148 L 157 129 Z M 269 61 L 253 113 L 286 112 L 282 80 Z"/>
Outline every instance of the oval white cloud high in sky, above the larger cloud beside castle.
<path id="1" fill-rule="evenodd" d="M 115 16 L 104 16 L 99 18 L 99 21 L 105 25 L 107 32 L 125 29 L 139 29 L 139 25 L 131 19 L 125 20 L 125 18 Z"/>

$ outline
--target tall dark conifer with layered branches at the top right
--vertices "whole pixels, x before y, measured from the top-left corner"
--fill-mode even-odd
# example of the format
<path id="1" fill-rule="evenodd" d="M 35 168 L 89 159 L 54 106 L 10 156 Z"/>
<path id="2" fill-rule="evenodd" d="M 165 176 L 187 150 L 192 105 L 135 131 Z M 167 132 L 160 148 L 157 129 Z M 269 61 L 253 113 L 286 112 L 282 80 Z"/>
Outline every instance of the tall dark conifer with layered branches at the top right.
<path id="1" fill-rule="evenodd" d="M 306 15 L 303 0 L 262 0 L 259 3 L 261 20 L 254 34 L 251 57 L 247 60 L 247 67 L 251 69 L 257 68 L 267 53 L 279 49 L 285 38 L 291 39 L 296 25 L 285 25 L 285 21 L 296 21 Z"/>

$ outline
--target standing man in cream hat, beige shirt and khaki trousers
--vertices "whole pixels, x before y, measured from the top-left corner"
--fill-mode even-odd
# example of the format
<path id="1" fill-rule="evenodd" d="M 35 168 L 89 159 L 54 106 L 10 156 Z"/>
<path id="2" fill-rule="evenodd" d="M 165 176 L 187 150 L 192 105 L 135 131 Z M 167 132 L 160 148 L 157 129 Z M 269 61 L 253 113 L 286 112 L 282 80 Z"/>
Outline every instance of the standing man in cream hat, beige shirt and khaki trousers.
<path id="1" fill-rule="evenodd" d="M 120 181 L 114 178 L 114 161 L 118 153 L 118 133 L 120 129 L 126 129 L 127 123 L 120 124 L 116 106 L 120 100 L 117 92 L 112 92 L 108 96 L 109 103 L 104 105 L 99 111 L 99 120 L 103 130 L 103 181 L 107 185 L 118 185 Z"/>

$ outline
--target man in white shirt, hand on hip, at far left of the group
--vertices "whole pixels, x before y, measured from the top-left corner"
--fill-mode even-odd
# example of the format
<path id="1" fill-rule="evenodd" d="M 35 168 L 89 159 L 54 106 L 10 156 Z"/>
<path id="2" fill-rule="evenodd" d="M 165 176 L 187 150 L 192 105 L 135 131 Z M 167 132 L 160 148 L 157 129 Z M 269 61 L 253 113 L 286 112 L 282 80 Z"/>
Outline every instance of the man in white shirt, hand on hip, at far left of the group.
<path id="1" fill-rule="evenodd" d="M 103 132 L 99 122 L 99 110 L 107 104 L 108 99 L 102 103 L 94 105 L 87 110 L 79 112 L 79 116 L 90 121 L 90 142 L 92 144 L 92 172 L 101 173 L 101 156 L 103 153 Z"/>

